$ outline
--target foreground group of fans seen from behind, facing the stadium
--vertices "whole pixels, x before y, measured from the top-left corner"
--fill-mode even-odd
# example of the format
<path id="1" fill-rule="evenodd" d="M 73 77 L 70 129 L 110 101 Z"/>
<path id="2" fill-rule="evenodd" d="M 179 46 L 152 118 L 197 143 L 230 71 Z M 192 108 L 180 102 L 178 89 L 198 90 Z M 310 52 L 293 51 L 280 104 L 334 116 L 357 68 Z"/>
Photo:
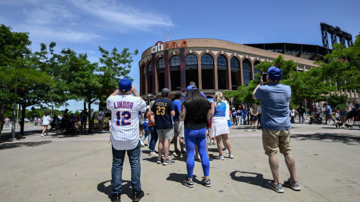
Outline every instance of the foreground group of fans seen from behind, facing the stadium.
<path id="1" fill-rule="evenodd" d="M 257 128 L 260 119 L 262 128 L 262 144 L 269 159 L 269 166 L 273 180 L 267 187 L 282 193 L 282 185 L 278 175 L 277 150 L 284 155 L 290 178 L 283 185 L 295 191 L 300 191 L 295 176 L 295 161 L 291 154 L 290 144 L 290 87 L 282 85 L 280 69 L 268 69 L 268 85 L 262 80 L 253 92 L 252 98 L 260 100 L 261 105 L 250 106 L 250 127 Z M 133 96 L 131 96 L 133 94 Z M 228 138 L 230 116 L 233 122 L 243 124 L 247 114 L 244 106 L 230 110 L 229 103 L 221 92 L 215 93 L 215 99 L 210 103 L 201 93 L 194 82 L 186 87 L 186 94 L 181 102 L 182 94 L 175 94 L 173 101 L 169 99 L 169 89 L 161 90 L 161 98 L 151 101 L 146 106 L 145 101 L 137 94 L 132 82 L 127 79 L 119 81 L 118 89 L 106 100 L 106 106 L 111 111 L 110 141 L 112 145 L 112 197 L 111 201 L 119 202 L 121 194 L 121 175 L 124 155 L 127 153 L 131 167 L 132 201 L 137 202 L 144 196 L 140 183 L 140 148 L 145 146 L 143 141 L 148 138 L 149 156 L 156 157 L 156 163 L 166 165 L 175 164 L 171 160 L 173 154 L 169 152 L 171 140 L 174 143 L 174 154 L 186 156 L 187 177 L 182 185 L 193 188 L 193 168 L 195 160 L 201 161 L 203 178 L 201 184 L 211 187 L 209 179 L 209 164 L 212 159 L 208 155 L 208 145 L 216 142 L 218 155 L 216 160 L 224 160 L 224 153 L 233 159 L 230 140 Z M 261 106 L 261 107 L 260 107 Z M 286 107 L 287 106 L 287 107 Z M 237 113 L 238 112 L 238 113 Z M 240 114 L 242 112 L 242 115 Z M 230 115 L 231 113 L 231 115 Z M 235 114 L 235 116 L 233 116 Z M 242 117 L 242 118 L 241 118 Z M 252 129 L 251 129 L 252 131 Z M 143 134 L 141 139 L 140 135 Z M 211 142 L 211 140 L 213 142 Z M 209 140 L 209 143 L 207 142 Z M 155 145 L 158 141 L 157 153 Z M 180 150 L 177 142 L 179 141 Z M 222 144 L 224 148 L 222 148 Z M 185 150 L 184 150 L 184 148 Z M 226 152 L 225 152 L 226 151 Z"/>

